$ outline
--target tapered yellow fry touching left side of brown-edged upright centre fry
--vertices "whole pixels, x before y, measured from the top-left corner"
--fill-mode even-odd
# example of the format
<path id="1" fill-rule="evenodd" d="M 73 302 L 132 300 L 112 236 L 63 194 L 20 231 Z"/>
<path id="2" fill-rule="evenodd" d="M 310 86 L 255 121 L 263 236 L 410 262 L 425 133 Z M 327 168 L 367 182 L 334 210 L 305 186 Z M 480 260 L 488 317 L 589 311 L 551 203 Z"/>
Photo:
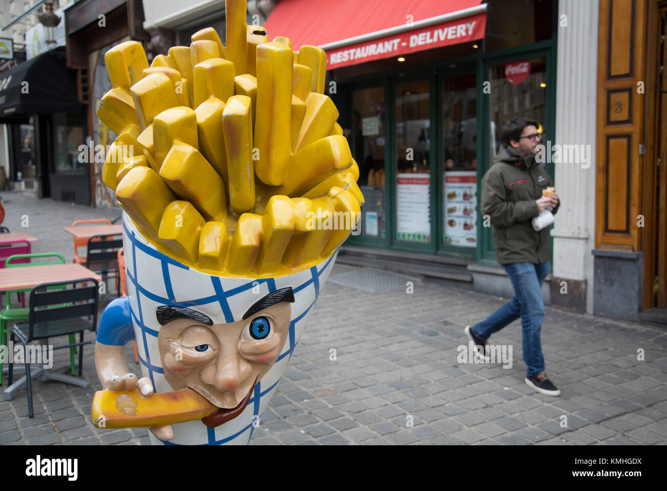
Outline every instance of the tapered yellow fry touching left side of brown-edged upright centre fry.
<path id="1" fill-rule="evenodd" d="M 213 166 L 215 172 L 227 185 L 227 156 L 225 154 L 225 139 L 223 138 L 222 115 L 225 103 L 215 97 L 210 97 L 195 109 L 197 116 L 197 137 L 199 152 Z M 229 194 L 227 194 L 229 196 Z"/>

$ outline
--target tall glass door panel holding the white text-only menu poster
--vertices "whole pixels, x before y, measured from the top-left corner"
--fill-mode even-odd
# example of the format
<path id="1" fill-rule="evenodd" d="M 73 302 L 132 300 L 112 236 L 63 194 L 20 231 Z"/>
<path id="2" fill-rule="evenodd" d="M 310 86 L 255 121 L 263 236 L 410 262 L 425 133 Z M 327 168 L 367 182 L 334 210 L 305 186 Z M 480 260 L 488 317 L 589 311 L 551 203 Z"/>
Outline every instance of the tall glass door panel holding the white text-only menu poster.
<path id="1" fill-rule="evenodd" d="M 395 242 L 432 249 L 430 80 L 397 83 L 394 100 Z"/>

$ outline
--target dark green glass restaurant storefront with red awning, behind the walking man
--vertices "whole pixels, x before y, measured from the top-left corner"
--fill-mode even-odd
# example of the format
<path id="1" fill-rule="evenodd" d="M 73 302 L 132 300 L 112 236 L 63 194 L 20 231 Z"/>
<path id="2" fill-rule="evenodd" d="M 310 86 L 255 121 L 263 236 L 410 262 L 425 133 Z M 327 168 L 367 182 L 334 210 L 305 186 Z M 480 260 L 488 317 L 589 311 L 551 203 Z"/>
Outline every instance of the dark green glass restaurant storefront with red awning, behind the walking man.
<path id="1" fill-rule="evenodd" d="M 327 52 L 329 95 L 366 196 L 359 234 L 345 249 L 364 259 L 382 257 L 394 268 L 413 261 L 412 271 L 512 295 L 496 262 L 492 227 L 478 209 L 481 182 L 500 150 L 502 126 L 512 118 L 538 121 L 543 142 L 555 141 L 558 2 L 422 4 L 339 2 L 326 15 L 336 8 L 338 17 L 368 19 L 372 13 L 360 9 L 384 9 L 393 25 L 404 27 L 352 40 L 303 42 Z M 265 24 L 269 38 L 278 31 L 293 34 L 297 49 L 301 36 L 315 36 L 280 23 L 290 7 L 302 5 L 279 2 Z M 341 13 L 346 8 L 350 12 Z M 328 27 L 310 22 L 321 31 Z M 370 46 L 387 39 L 396 39 L 387 45 L 392 55 L 374 59 L 379 48 Z M 554 177 L 554 164 L 545 167 Z M 549 282 L 544 293 L 549 302 Z"/>

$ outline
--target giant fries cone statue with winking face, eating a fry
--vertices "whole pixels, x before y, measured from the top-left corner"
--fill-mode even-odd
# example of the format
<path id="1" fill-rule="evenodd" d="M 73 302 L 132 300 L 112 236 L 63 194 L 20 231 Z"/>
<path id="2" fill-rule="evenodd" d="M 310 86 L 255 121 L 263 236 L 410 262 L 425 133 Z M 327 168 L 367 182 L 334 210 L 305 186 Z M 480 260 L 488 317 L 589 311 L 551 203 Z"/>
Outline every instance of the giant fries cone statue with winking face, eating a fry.
<path id="1" fill-rule="evenodd" d="M 150 67 L 135 41 L 105 55 L 128 295 L 100 319 L 92 418 L 153 444 L 249 442 L 364 203 L 324 52 L 225 4 L 225 44 L 208 28 Z"/>

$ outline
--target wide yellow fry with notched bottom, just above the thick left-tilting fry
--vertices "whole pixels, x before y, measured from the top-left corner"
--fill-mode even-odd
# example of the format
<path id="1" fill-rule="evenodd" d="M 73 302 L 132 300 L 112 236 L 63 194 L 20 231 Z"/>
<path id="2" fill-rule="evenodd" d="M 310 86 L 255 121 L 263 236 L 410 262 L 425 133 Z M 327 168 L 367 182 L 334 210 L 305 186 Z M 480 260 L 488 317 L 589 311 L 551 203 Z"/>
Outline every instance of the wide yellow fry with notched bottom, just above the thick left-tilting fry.
<path id="1" fill-rule="evenodd" d="M 175 140 L 198 148 L 197 115 L 186 106 L 167 109 L 153 120 L 153 152 L 157 172 Z"/>

